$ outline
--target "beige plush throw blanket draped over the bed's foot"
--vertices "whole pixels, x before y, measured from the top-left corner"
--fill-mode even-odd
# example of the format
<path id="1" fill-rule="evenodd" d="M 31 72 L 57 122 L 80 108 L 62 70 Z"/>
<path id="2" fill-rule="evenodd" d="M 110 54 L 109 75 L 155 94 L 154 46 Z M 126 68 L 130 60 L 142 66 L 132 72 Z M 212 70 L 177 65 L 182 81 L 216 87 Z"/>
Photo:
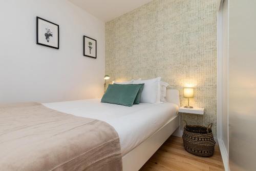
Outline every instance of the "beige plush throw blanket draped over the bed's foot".
<path id="1" fill-rule="evenodd" d="M 0 170 L 122 170 L 109 124 L 39 103 L 0 106 Z"/>

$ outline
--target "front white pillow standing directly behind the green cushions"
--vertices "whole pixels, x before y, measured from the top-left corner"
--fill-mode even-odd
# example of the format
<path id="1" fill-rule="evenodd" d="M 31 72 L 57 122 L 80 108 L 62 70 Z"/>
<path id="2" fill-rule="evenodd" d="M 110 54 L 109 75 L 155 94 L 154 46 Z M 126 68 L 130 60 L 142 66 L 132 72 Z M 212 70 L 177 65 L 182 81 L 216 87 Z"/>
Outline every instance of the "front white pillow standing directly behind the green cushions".
<path id="1" fill-rule="evenodd" d="M 160 80 L 161 77 L 151 80 L 134 80 L 133 84 L 143 84 L 141 103 L 160 103 Z"/>

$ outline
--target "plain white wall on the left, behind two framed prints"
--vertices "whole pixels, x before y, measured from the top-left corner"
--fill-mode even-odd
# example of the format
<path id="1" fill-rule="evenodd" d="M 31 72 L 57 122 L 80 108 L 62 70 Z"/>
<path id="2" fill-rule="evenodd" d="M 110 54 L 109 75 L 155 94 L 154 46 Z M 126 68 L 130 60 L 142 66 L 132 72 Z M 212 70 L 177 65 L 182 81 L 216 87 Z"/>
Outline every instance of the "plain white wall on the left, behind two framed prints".
<path id="1" fill-rule="evenodd" d="M 36 45 L 36 16 L 59 25 L 59 50 Z M 0 22 L 0 103 L 101 96 L 102 21 L 67 0 L 2 0 Z M 97 40 L 96 60 L 82 55 L 82 35 Z"/>

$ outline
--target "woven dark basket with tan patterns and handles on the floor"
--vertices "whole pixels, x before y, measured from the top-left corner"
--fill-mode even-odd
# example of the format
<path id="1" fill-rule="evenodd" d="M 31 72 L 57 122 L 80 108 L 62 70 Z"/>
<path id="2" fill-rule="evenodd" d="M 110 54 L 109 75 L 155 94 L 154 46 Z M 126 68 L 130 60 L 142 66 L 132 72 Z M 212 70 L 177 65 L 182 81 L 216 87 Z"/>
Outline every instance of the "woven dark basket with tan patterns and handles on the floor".
<path id="1" fill-rule="evenodd" d="M 183 143 L 185 150 L 189 153 L 210 157 L 214 155 L 215 141 L 211 131 L 212 123 L 207 127 L 198 125 L 185 125 L 183 133 Z"/>

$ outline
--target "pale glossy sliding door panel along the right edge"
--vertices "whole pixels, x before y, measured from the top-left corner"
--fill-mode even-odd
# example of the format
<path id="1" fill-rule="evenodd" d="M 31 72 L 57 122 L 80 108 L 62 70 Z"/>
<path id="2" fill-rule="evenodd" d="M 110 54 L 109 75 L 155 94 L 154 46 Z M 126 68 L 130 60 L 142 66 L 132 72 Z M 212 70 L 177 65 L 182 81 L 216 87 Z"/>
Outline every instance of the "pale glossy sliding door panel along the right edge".
<path id="1" fill-rule="evenodd" d="M 256 1 L 229 1 L 229 166 L 256 169 Z"/>

